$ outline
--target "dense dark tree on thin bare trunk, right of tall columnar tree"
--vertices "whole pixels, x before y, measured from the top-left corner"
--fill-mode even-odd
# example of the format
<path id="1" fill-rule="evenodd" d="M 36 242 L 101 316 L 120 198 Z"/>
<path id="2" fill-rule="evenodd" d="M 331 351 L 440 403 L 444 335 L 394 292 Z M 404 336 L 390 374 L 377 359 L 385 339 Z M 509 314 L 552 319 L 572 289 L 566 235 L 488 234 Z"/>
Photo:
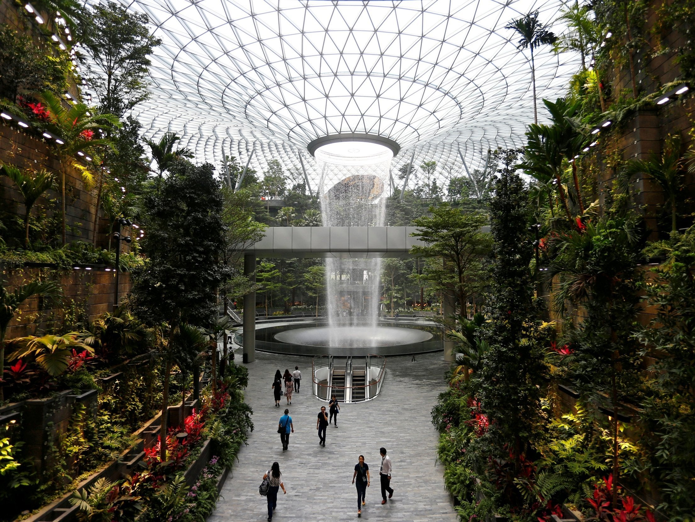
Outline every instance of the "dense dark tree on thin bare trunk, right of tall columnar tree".
<path id="1" fill-rule="evenodd" d="M 641 286 L 639 257 L 644 229 L 635 216 L 604 216 L 596 223 L 578 223 L 548 241 L 546 274 L 558 276 L 558 310 L 570 301 L 586 310 L 578 327 L 575 363 L 570 366 L 575 388 L 584 402 L 598 393 L 604 406 L 619 413 L 620 401 L 632 400 L 639 382 L 639 357 L 632 338 Z M 619 477 L 619 420 L 612 416 L 612 475 Z M 614 493 L 614 505 L 616 495 Z"/>

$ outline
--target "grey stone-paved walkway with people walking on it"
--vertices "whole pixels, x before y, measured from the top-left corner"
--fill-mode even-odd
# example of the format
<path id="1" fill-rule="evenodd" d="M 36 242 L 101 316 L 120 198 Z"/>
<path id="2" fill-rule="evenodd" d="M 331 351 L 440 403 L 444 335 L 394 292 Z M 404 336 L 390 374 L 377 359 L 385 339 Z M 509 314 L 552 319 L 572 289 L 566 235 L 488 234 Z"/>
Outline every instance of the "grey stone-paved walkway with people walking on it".
<path id="1" fill-rule="evenodd" d="M 446 364 L 441 353 L 389 357 L 382 393 L 363 404 L 345 404 L 338 427 L 327 429 L 326 447 L 318 445 L 316 416 L 324 402 L 311 395 L 311 358 L 256 352 L 248 365 L 250 384 L 246 400 L 254 409 L 255 429 L 248 445 L 241 448 L 238 462 L 222 489 L 222 498 L 209 522 L 265 521 L 265 498 L 259 484 L 273 461 L 283 474 L 286 495 L 279 491 L 274 522 L 338 522 L 357 519 L 357 489 L 352 473 L 363 454 L 372 473 L 367 489 L 363 520 L 425 522 L 456 521 L 457 516 L 444 489 L 443 467 L 436 463 L 436 430 L 430 410 L 443 390 Z M 304 377 L 300 393 L 291 406 L 281 397 L 275 408 L 272 376 L 278 368 L 299 365 Z M 295 433 L 290 447 L 282 452 L 277 421 L 288 407 Z M 389 450 L 393 461 L 393 498 L 381 505 L 379 448 Z"/>

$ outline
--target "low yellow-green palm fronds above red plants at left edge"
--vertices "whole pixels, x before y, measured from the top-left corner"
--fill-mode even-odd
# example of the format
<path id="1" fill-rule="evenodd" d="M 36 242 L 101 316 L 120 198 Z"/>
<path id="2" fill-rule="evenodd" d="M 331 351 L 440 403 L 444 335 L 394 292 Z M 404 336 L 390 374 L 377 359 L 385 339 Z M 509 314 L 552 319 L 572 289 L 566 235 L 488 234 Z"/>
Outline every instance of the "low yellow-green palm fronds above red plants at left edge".
<path id="1" fill-rule="evenodd" d="M 58 377 L 67 370 L 72 350 L 79 348 L 94 353 L 92 347 L 79 340 L 79 332 L 63 335 L 29 335 L 13 339 L 13 344 L 23 345 L 10 355 L 10 361 L 15 359 L 33 358 L 40 367 L 51 377 Z"/>

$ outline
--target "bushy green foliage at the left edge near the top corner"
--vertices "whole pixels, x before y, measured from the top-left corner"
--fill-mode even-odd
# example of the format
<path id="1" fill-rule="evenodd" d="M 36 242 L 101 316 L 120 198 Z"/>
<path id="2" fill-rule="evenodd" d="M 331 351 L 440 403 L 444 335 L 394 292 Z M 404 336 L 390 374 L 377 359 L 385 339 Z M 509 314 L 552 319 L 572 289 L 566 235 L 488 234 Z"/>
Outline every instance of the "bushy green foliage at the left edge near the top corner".
<path id="1" fill-rule="evenodd" d="M 13 103 L 19 96 L 53 90 L 67 82 L 67 65 L 28 35 L 0 24 L 0 97 Z"/>

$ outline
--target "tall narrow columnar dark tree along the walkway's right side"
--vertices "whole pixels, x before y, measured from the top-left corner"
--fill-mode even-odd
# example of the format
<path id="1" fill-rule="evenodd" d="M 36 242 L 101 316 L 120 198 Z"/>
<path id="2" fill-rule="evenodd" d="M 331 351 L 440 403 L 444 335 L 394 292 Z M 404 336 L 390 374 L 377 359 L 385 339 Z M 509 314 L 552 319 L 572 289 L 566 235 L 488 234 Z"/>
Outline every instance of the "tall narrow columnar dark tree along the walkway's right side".
<path id="1" fill-rule="evenodd" d="M 493 238 L 484 340 L 489 350 L 480 375 L 480 402 L 489 418 L 496 454 L 509 454 L 518 473 L 521 456 L 537 429 L 543 347 L 529 271 L 528 196 L 514 163 L 518 150 L 497 150 L 498 180 L 490 201 Z M 505 449 L 507 448 L 507 449 Z"/>

